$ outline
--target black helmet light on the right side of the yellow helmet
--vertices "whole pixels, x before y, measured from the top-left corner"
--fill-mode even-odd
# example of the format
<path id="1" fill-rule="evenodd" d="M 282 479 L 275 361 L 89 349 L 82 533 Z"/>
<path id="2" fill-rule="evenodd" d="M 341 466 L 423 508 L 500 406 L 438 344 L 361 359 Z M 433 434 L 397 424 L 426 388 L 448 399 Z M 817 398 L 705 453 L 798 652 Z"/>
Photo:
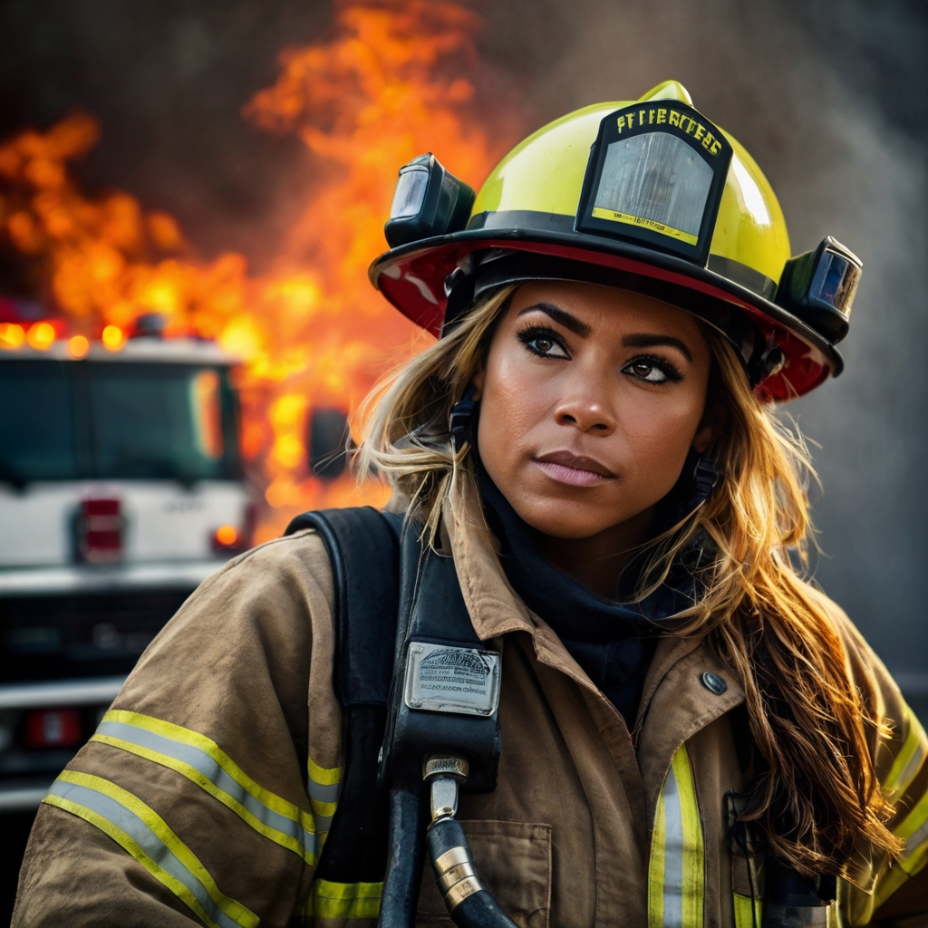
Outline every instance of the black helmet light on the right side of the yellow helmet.
<path id="1" fill-rule="evenodd" d="M 853 251 L 828 236 L 786 263 L 775 302 L 836 344 L 847 334 L 862 268 Z"/>

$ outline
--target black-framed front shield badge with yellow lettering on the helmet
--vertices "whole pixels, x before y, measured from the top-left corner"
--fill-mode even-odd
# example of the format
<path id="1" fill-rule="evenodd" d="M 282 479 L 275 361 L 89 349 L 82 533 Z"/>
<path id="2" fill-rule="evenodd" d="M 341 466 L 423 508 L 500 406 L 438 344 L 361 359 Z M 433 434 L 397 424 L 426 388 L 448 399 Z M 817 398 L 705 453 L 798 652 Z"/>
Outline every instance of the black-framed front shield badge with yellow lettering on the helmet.
<path id="1" fill-rule="evenodd" d="M 599 123 L 574 227 L 704 267 L 730 161 L 725 135 L 679 100 L 615 110 Z"/>

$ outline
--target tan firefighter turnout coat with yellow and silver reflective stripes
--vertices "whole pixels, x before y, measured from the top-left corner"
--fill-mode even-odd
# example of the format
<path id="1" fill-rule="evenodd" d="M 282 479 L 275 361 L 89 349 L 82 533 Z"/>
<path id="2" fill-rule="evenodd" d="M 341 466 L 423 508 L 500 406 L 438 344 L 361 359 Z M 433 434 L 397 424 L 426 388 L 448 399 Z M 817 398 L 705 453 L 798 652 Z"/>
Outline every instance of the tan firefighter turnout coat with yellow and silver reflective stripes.
<path id="1" fill-rule="evenodd" d="M 512 591 L 472 486 L 444 526 L 474 628 L 502 650 L 499 785 L 462 797 L 459 818 L 503 908 L 531 928 L 750 926 L 757 861 L 752 870 L 732 854 L 725 800 L 750 776 L 731 723 L 739 680 L 704 641 L 663 638 L 629 733 Z M 892 868 L 861 848 L 857 886 L 841 883 L 830 922 L 925 925 L 928 745 L 883 665 L 822 601 L 892 728 L 872 733 L 871 751 L 897 803 L 891 827 L 908 841 Z M 16 928 L 251 928 L 300 913 L 374 923 L 376 884 L 314 886 L 342 767 L 331 608 L 329 561 L 311 531 L 200 586 L 42 806 Z M 707 688 L 706 672 L 728 689 Z M 417 924 L 451 924 L 428 873 Z"/>

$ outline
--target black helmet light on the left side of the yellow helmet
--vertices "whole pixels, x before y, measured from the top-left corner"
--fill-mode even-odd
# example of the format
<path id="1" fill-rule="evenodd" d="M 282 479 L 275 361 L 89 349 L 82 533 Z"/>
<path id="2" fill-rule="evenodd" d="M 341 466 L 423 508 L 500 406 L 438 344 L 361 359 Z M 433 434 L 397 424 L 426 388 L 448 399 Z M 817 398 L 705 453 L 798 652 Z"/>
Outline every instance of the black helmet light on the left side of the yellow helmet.
<path id="1" fill-rule="evenodd" d="M 383 234 L 391 248 L 420 238 L 459 232 L 467 226 L 476 195 L 427 152 L 400 168 L 390 218 Z"/>

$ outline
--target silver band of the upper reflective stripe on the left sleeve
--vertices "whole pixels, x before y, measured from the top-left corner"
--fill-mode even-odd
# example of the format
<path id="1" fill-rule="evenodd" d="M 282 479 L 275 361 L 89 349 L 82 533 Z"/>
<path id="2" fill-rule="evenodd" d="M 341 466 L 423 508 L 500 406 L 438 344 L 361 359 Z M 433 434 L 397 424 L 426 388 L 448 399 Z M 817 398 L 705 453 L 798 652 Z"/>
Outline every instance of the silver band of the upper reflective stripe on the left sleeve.
<path id="1" fill-rule="evenodd" d="M 166 738 L 163 735 L 155 734 L 146 728 L 137 728 L 135 725 L 127 725 L 124 722 L 101 722 L 97 727 L 97 734 L 107 735 L 110 738 L 118 738 L 122 741 L 128 741 L 130 744 L 136 744 L 139 747 L 148 748 L 149 751 L 165 754 L 173 757 L 174 760 L 187 764 L 201 773 L 207 780 L 210 780 L 214 786 L 222 790 L 241 806 L 244 806 L 251 812 L 254 818 L 257 818 L 262 824 L 274 831 L 281 831 L 290 835 L 298 844 L 302 844 L 308 854 L 318 854 L 316 835 L 306 831 L 303 826 L 292 818 L 280 815 L 274 809 L 265 806 L 263 802 L 256 799 L 240 783 L 233 780 L 218 763 L 200 748 L 192 744 L 185 744 L 182 741 Z"/>

